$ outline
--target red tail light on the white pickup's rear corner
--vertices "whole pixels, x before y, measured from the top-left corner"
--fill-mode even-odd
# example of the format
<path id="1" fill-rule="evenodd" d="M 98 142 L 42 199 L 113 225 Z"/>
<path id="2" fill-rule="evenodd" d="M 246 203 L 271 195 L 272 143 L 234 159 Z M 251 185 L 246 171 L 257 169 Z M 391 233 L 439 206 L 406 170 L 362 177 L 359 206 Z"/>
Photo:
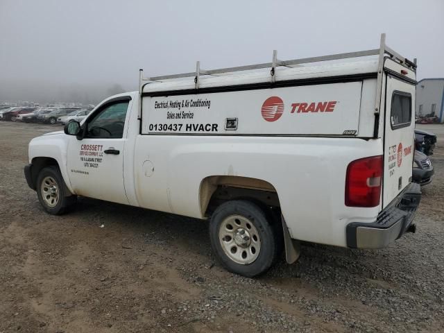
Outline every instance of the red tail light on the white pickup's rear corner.
<path id="1" fill-rule="evenodd" d="M 350 162 L 345 176 L 345 205 L 375 207 L 379 205 L 383 158 L 372 156 Z"/>

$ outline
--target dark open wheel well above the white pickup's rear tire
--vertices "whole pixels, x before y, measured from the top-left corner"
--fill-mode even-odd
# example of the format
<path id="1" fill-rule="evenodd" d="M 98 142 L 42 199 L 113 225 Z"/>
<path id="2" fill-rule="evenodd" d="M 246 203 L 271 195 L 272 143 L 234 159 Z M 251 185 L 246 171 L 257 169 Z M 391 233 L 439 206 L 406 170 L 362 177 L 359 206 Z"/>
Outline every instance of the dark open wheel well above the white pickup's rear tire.
<path id="1" fill-rule="evenodd" d="M 252 200 L 261 206 L 280 207 L 278 192 L 265 180 L 241 176 L 210 176 L 200 183 L 200 210 L 205 216 L 229 200 Z"/>

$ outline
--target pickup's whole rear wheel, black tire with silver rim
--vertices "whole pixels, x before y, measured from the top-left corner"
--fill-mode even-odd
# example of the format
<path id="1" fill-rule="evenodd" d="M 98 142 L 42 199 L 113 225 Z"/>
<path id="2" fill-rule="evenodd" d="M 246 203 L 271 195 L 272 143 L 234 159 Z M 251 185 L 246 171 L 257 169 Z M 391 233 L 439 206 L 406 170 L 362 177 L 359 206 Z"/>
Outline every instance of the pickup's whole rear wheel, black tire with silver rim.
<path id="1" fill-rule="evenodd" d="M 247 200 L 223 203 L 210 221 L 216 258 L 228 271 L 248 278 L 266 273 L 275 264 L 282 253 L 282 237 L 282 225 L 270 212 Z"/>

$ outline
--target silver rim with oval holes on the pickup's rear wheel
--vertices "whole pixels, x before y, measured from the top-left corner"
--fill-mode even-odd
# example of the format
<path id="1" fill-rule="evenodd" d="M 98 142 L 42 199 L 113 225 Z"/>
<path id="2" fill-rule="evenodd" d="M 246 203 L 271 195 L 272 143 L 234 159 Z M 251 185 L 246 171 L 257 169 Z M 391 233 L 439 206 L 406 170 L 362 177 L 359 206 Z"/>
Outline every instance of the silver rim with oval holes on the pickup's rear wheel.
<path id="1" fill-rule="evenodd" d="M 225 255 L 241 265 L 254 262 L 261 250 L 259 232 L 252 221 L 241 215 L 231 215 L 222 221 L 219 241 Z"/>

